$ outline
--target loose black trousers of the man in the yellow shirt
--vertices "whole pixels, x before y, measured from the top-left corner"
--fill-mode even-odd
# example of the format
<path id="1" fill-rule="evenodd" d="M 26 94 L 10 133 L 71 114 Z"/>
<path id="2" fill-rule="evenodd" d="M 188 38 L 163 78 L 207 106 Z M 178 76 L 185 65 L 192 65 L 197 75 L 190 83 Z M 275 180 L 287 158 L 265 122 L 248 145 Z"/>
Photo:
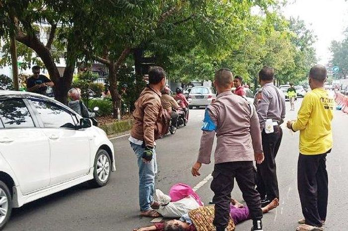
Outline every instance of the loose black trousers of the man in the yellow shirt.
<path id="1" fill-rule="evenodd" d="M 310 226 L 321 227 L 321 221 L 326 220 L 329 193 L 326 155 L 300 154 L 298 157 L 297 188 L 303 216 Z"/>

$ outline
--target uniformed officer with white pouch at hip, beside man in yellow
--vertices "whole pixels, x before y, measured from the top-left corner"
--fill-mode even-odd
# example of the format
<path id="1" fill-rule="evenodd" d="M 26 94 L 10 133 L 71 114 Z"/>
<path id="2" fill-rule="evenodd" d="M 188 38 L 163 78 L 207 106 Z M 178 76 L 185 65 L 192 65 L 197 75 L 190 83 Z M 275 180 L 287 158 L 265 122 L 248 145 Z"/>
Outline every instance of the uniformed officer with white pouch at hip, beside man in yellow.
<path id="1" fill-rule="evenodd" d="M 279 199 L 275 156 L 278 153 L 283 131 L 280 124 L 285 118 L 285 96 L 274 86 L 274 70 L 264 67 L 259 73 L 262 88 L 255 96 L 255 105 L 260 120 L 264 161 L 257 164 L 257 190 L 262 206 L 274 198 Z"/>

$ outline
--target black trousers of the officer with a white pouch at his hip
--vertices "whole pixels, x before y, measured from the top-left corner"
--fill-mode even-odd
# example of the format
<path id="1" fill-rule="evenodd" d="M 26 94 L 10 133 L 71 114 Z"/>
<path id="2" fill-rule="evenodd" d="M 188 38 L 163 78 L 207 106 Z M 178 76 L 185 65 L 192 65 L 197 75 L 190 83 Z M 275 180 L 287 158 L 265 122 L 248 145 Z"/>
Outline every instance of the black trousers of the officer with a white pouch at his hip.
<path id="1" fill-rule="evenodd" d="M 257 190 L 264 199 L 272 201 L 274 198 L 279 199 L 279 189 L 277 180 L 277 168 L 275 164 L 275 156 L 278 153 L 283 130 L 279 126 L 274 126 L 274 132 L 266 134 L 264 130 L 262 136 L 262 149 L 264 160 L 261 164 L 257 164 Z"/>

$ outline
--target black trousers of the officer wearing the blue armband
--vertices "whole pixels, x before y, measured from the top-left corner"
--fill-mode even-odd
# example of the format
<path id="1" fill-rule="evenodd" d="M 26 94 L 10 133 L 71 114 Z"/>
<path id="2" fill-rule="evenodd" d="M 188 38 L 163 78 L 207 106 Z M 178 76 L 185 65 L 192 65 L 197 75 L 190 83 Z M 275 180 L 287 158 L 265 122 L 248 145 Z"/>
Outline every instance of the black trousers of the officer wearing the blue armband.
<path id="1" fill-rule="evenodd" d="M 214 192 L 215 217 L 213 224 L 216 231 L 223 231 L 230 219 L 231 192 L 234 186 L 234 178 L 243 193 L 251 218 L 261 220 L 261 198 L 255 189 L 256 170 L 253 161 L 238 161 L 218 163 L 212 173 L 213 181 L 210 188 Z"/>

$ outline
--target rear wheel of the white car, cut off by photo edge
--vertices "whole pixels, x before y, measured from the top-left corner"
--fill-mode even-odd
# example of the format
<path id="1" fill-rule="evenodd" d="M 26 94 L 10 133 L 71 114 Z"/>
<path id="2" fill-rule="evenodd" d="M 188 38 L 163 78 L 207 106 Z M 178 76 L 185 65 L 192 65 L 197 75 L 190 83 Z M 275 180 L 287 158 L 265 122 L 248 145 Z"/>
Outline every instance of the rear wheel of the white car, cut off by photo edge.
<path id="1" fill-rule="evenodd" d="M 0 230 L 6 225 L 12 212 L 12 198 L 5 183 L 0 180 Z"/>

